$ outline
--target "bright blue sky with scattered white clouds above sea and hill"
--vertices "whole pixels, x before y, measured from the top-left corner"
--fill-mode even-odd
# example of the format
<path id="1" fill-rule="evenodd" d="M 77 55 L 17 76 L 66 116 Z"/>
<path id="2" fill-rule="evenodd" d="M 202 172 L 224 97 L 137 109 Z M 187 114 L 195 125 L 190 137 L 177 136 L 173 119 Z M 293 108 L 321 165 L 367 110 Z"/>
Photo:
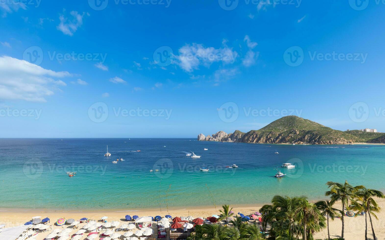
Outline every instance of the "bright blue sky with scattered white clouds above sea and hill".
<path id="1" fill-rule="evenodd" d="M 96 3 L 0 0 L 0 137 L 385 132 L 382 3 Z"/>

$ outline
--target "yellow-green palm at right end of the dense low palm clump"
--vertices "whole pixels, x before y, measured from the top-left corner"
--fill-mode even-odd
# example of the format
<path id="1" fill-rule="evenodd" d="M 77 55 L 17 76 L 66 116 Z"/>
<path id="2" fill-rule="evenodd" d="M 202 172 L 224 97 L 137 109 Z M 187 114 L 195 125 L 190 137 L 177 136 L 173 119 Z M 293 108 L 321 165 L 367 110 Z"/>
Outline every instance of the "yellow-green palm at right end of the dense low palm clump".
<path id="1" fill-rule="evenodd" d="M 302 239 L 306 240 L 306 236 L 308 234 L 306 225 L 308 223 L 318 223 L 318 215 L 320 215 L 320 210 L 318 210 L 314 203 L 308 202 L 306 197 L 302 197 L 297 209 L 295 210 L 295 213 L 296 218 L 303 225 Z"/>

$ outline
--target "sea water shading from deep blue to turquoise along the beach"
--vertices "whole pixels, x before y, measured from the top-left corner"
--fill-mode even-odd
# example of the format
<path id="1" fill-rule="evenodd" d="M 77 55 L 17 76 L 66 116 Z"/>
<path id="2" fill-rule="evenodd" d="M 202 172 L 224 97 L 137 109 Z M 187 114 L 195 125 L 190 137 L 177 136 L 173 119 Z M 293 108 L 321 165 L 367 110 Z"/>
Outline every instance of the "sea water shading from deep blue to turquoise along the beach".
<path id="1" fill-rule="evenodd" d="M 107 144 L 111 157 L 104 157 Z M 67 138 L 0 139 L 0 146 L 0 207 L 7 208 L 165 209 L 267 203 L 277 194 L 321 199 L 327 181 L 345 180 L 385 189 L 385 147 L 379 145 Z M 202 157 L 186 157 L 190 151 Z M 118 157 L 125 161 L 113 164 Z M 286 162 L 295 170 L 276 167 Z M 234 163 L 239 168 L 225 168 Z M 209 172 L 199 171 L 206 167 Z M 274 178 L 277 169 L 288 175 Z"/>

